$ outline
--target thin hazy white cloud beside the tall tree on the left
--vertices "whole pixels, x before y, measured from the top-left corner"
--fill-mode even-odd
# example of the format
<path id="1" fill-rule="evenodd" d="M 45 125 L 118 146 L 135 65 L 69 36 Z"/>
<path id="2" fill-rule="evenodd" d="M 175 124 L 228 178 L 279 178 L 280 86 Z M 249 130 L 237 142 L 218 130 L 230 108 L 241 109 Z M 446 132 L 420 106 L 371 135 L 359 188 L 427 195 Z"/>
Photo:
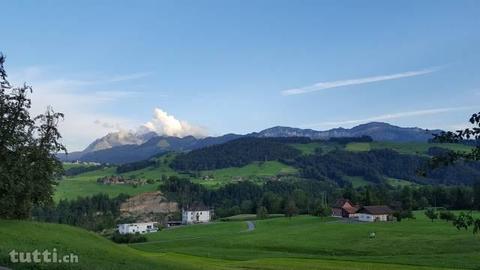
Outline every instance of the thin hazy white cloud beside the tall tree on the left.
<path id="1" fill-rule="evenodd" d="M 82 150 L 94 139 L 109 132 L 134 130 L 138 126 L 138 121 L 104 113 L 102 108 L 138 94 L 134 91 L 115 90 L 108 84 L 136 80 L 149 74 L 134 73 L 94 79 L 71 79 L 54 77 L 46 68 L 28 67 L 11 73 L 9 79 L 13 85 L 27 82 L 33 87 L 32 114 L 43 113 L 49 105 L 52 105 L 55 111 L 65 114 L 59 129 L 64 144 L 72 152 Z M 103 90 L 106 87 L 111 90 Z"/>

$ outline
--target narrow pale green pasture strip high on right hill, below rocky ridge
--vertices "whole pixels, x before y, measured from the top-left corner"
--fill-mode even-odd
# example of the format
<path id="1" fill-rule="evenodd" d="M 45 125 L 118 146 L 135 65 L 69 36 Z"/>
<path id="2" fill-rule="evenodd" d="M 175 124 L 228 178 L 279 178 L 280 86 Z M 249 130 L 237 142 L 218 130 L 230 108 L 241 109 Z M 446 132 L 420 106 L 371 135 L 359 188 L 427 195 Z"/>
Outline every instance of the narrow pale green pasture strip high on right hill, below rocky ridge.
<path id="1" fill-rule="evenodd" d="M 422 143 L 422 142 L 370 142 L 370 143 L 349 143 L 345 149 L 348 151 L 360 152 L 374 149 L 392 149 L 400 154 L 427 155 L 430 147 L 441 147 L 453 151 L 469 151 L 472 148 L 463 144 L 454 143 Z"/>

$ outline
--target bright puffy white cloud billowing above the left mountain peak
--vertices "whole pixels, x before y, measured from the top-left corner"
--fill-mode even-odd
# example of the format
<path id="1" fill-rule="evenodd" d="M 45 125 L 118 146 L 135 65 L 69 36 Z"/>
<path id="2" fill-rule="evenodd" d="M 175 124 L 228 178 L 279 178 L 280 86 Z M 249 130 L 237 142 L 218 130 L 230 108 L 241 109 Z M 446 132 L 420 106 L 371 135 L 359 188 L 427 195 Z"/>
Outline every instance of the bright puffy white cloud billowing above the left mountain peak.
<path id="1" fill-rule="evenodd" d="M 142 129 L 176 137 L 185 137 L 189 135 L 194 137 L 205 137 L 206 135 L 205 129 L 194 126 L 186 121 L 178 120 L 173 115 L 170 115 L 159 108 L 155 108 L 153 119 L 143 124 Z"/>

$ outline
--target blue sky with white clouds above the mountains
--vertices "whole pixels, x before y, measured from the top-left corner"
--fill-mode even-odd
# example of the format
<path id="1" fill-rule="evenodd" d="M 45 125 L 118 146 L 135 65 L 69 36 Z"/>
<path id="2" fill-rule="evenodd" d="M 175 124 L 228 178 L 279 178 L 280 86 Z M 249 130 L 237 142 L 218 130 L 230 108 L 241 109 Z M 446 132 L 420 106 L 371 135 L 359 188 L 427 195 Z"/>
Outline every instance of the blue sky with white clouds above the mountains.
<path id="1" fill-rule="evenodd" d="M 369 121 L 455 129 L 478 111 L 479 1 L 4 1 L 0 51 L 70 150 Z M 156 118 L 154 115 L 155 108 Z"/>

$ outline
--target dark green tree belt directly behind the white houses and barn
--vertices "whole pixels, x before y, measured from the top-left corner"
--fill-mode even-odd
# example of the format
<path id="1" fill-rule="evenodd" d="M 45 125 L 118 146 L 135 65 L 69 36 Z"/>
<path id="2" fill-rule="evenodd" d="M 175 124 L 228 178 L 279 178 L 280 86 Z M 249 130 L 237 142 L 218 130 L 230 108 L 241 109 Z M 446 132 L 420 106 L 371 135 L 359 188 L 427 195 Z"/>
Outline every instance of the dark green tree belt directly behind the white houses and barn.
<path id="1" fill-rule="evenodd" d="M 211 190 L 187 179 L 170 177 L 160 190 L 183 207 L 197 203 L 214 207 L 219 217 L 258 211 L 287 214 L 292 210 L 295 214 L 328 215 L 329 205 L 338 198 L 347 198 L 359 205 L 389 205 L 403 217 L 411 217 L 413 210 L 435 206 L 480 209 L 480 182 L 473 188 L 424 185 L 392 189 L 378 184 L 357 189 L 347 185 L 338 189 L 329 182 L 315 180 L 269 181 L 263 185 L 243 181 Z"/>

